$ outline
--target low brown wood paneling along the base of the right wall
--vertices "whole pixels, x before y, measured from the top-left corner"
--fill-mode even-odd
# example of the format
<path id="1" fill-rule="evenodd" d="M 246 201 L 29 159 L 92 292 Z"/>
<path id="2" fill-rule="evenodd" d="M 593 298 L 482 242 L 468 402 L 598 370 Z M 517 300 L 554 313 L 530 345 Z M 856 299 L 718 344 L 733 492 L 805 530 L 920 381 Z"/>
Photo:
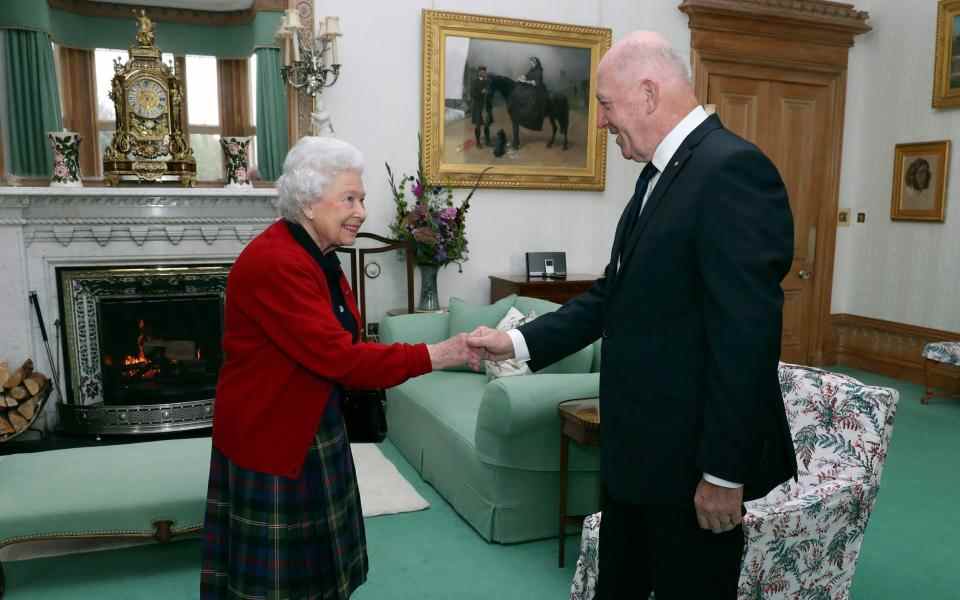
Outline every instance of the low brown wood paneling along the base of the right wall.
<path id="1" fill-rule="evenodd" d="M 960 333 L 915 325 L 834 314 L 833 337 L 837 364 L 923 384 L 923 357 L 929 342 L 958 341 Z M 960 389 L 960 369 L 937 365 L 930 382 L 946 389 Z"/>

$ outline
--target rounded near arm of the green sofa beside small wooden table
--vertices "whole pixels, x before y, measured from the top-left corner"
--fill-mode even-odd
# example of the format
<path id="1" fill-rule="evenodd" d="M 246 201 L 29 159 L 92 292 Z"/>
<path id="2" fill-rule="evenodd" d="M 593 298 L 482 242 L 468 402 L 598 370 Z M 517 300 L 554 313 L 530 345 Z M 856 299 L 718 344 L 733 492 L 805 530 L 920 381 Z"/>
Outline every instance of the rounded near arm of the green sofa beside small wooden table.
<path id="1" fill-rule="evenodd" d="M 534 471 L 560 468 L 560 415 L 565 400 L 596 397 L 598 373 L 524 375 L 494 379 L 477 415 L 476 447 L 483 462 Z M 571 448 L 570 469 L 596 470 L 595 449 Z"/>

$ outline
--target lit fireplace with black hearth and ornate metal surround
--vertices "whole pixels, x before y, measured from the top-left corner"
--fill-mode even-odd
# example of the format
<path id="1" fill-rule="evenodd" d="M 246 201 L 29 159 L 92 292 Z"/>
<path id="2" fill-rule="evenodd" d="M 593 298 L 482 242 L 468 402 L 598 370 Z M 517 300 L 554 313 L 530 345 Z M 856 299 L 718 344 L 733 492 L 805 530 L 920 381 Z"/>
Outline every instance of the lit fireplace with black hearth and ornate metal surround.
<path id="1" fill-rule="evenodd" d="M 67 394 L 61 427 L 210 427 L 229 266 L 58 268 Z"/>

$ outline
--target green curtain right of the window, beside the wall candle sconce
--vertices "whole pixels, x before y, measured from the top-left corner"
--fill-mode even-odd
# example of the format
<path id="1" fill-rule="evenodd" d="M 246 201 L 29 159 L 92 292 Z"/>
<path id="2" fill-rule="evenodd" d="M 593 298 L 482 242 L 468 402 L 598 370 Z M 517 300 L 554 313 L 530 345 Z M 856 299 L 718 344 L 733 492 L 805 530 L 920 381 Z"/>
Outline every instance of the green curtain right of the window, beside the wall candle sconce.
<path id="1" fill-rule="evenodd" d="M 280 79 L 280 50 L 257 48 L 257 169 L 276 181 L 287 155 L 287 94 Z"/>

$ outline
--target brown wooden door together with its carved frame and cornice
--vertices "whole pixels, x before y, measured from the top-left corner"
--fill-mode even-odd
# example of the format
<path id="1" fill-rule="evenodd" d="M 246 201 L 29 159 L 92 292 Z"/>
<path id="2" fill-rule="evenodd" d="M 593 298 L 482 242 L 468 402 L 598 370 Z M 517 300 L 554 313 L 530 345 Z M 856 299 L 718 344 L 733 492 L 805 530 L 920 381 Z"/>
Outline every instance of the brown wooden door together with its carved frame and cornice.
<path id="1" fill-rule="evenodd" d="M 827 0 L 684 0 L 701 103 L 777 166 L 794 217 L 782 357 L 829 358 L 847 54 L 867 13 Z"/>

